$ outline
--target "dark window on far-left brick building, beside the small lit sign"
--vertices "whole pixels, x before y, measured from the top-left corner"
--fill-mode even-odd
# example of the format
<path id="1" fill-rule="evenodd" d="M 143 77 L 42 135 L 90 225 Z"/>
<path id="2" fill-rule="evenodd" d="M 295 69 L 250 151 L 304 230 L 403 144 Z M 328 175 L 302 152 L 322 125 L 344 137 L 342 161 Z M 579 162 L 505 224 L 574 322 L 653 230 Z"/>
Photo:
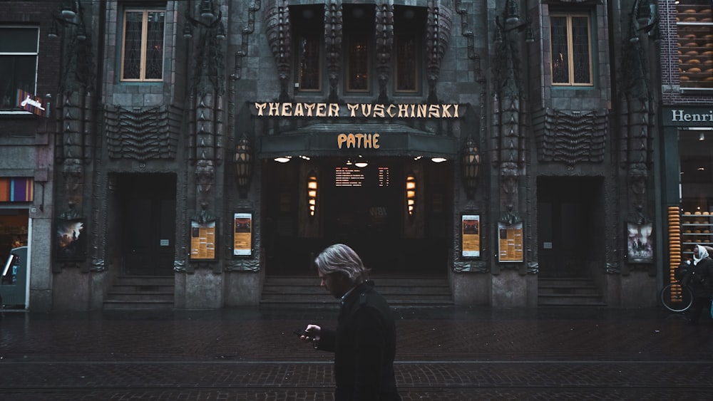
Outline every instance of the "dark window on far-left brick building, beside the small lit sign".
<path id="1" fill-rule="evenodd" d="M 35 94 L 39 28 L 0 27 L 0 111 L 21 111 L 18 93 Z"/>

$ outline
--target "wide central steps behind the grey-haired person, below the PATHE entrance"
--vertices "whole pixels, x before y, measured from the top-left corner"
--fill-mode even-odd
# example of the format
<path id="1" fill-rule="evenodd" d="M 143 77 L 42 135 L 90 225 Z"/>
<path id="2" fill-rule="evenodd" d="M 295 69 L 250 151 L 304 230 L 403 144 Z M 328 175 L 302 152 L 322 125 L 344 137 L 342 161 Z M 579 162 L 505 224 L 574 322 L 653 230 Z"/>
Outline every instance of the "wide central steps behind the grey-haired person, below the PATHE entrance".
<path id="1" fill-rule="evenodd" d="M 451 306 L 453 294 L 443 277 L 374 276 L 376 291 L 391 307 Z M 337 306 L 317 276 L 267 276 L 262 288 L 262 306 Z"/>

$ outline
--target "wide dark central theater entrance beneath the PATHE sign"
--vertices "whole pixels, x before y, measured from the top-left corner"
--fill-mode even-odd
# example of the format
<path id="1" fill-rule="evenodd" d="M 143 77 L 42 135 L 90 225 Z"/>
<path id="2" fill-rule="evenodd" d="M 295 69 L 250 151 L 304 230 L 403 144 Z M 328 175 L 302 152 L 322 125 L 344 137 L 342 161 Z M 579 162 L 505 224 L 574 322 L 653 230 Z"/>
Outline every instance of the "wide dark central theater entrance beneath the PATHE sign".
<path id="1" fill-rule="evenodd" d="M 279 164 L 265 161 L 263 244 L 270 275 L 312 275 L 312 261 L 335 243 L 352 246 L 374 276 L 445 276 L 452 242 L 449 163 L 410 157 L 369 157 L 356 167 L 345 157 Z M 317 226 L 300 234 L 306 182 L 299 171 L 319 172 Z M 406 178 L 419 177 L 417 212 L 409 217 Z M 310 221 L 312 222 L 312 221 Z"/>

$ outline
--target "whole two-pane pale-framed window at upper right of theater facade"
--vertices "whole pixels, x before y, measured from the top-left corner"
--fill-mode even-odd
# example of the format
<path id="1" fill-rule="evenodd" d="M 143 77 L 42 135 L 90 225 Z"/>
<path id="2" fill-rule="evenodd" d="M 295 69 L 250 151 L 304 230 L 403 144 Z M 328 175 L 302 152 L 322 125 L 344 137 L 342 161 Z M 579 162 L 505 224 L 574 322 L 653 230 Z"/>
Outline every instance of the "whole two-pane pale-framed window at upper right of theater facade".
<path id="1" fill-rule="evenodd" d="M 553 85 L 593 85 L 591 32 L 588 14 L 552 14 Z"/>

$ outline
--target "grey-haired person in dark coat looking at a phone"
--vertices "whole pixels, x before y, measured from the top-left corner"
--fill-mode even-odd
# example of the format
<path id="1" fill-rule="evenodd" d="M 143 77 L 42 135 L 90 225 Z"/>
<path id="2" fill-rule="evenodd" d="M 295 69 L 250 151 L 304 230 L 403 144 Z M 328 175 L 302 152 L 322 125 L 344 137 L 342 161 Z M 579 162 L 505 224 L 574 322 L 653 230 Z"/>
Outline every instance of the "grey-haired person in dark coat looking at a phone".
<path id="1" fill-rule="evenodd" d="M 396 326 L 389 304 L 374 290 L 354 249 L 334 244 L 317 259 L 322 286 L 342 300 L 337 330 L 307 325 L 302 340 L 334 352 L 335 401 L 400 401 L 394 357 Z"/>

